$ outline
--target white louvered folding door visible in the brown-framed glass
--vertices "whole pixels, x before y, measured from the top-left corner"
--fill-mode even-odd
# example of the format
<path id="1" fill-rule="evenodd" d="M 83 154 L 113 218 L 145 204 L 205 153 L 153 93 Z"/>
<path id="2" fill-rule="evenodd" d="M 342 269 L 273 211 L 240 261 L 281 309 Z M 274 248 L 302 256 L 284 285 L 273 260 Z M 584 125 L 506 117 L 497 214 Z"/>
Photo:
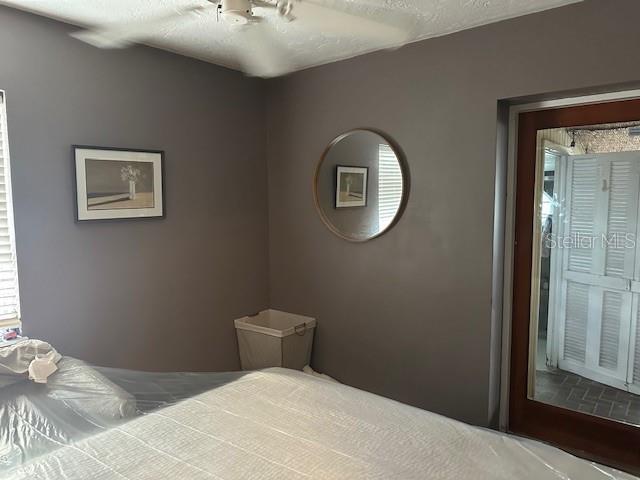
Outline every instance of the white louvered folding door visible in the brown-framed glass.
<path id="1" fill-rule="evenodd" d="M 640 152 L 568 162 L 560 240 L 570 243 L 562 250 L 558 366 L 628 389 L 640 294 L 634 291 Z"/>

